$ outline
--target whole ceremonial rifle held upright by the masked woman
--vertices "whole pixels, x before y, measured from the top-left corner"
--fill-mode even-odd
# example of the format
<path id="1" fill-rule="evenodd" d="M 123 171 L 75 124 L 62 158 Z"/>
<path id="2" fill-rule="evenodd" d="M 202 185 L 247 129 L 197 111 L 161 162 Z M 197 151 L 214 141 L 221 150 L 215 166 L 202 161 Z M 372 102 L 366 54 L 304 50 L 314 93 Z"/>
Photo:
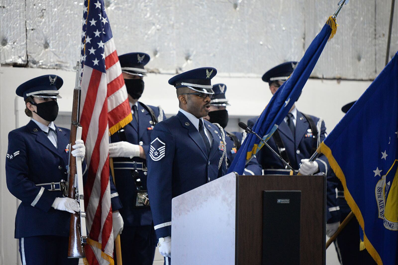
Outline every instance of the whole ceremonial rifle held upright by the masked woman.
<path id="1" fill-rule="evenodd" d="M 80 116 L 81 65 L 77 62 L 76 83 L 73 91 L 72 122 L 70 124 L 68 193 L 67 197 L 76 199 L 80 205 L 79 213 L 70 214 L 68 258 L 84 258 L 84 244 L 87 243 L 86 213 L 84 211 L 82 158 L 72 155 L 72 145 L 82 139 Z"/>

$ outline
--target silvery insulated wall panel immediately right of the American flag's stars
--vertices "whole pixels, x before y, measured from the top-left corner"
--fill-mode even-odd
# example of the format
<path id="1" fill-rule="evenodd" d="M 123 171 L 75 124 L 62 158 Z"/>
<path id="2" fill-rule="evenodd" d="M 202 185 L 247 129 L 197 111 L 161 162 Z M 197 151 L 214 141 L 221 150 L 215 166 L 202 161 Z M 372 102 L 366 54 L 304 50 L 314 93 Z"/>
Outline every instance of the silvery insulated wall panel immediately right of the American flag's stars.
<path id="1" fill-rule="evenodd" d="M 117 54 L 145 52 L 146 68 L 175 73 L 174 1 L 105 1 Z"/>

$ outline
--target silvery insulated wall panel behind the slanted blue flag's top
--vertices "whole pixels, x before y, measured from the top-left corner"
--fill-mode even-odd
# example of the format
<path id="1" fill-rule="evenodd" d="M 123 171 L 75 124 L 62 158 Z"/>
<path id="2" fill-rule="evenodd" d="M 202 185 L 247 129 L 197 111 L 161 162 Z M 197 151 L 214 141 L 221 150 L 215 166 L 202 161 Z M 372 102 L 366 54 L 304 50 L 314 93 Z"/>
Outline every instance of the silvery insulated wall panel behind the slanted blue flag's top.
<path id="1" fill-rule="evenodd" d="M 307 48 L 338 1 L 306 0 Z M 349 1 L 341 10 L 335 37 L 322 52 L 313 77 L 373 79 L 376 77 L 375 0 Z M 380 2 L 380 1 L 377 1 Z"/>

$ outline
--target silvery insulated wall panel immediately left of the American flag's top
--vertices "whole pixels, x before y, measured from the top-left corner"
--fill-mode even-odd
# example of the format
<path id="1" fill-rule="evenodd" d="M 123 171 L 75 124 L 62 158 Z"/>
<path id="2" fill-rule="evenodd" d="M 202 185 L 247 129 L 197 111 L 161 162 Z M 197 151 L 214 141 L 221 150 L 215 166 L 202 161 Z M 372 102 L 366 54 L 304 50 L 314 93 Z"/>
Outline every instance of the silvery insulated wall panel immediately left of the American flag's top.
<path id="1" fill-rule="evenodd" d="M 30 67 L 72 69 L 80 58 L 83 1 L 26 1 Z"/>

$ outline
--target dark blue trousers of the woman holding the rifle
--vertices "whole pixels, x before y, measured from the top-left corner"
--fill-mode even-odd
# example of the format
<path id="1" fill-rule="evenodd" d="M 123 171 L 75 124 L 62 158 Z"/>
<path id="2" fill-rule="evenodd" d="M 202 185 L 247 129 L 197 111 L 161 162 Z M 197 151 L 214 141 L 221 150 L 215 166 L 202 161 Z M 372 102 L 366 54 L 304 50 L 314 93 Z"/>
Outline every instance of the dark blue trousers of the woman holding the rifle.
<path id="1" fill-rule="evenodd" d="M 22 265 L 77 265 L 68 259 L 69 238 L 65 236 L 29 236 L 20 238 Z"/>

